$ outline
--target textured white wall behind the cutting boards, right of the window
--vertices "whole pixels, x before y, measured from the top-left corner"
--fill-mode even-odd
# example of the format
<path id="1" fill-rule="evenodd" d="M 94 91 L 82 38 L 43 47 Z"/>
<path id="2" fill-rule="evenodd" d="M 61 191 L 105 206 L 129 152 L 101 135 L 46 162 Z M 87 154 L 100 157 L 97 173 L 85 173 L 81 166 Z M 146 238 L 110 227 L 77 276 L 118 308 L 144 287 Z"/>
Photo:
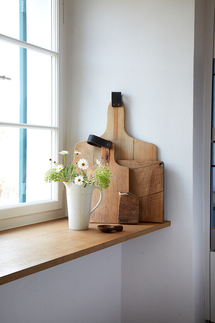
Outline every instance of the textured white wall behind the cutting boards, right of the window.
<path id="1" fill-rule="evenodd" d="M 203 279 L 198 268 L 193 276 L 202 257 L 193 255 L 194 3 L 69 2 L 67 150 L 104 132 L 111 91 L 121 91 L 127 132 L 154 143 L 165 164 L 172 225 L 122 244 L 123 323 L 194 322 L 194 300 L 204 321 L 193 284 Z"/>

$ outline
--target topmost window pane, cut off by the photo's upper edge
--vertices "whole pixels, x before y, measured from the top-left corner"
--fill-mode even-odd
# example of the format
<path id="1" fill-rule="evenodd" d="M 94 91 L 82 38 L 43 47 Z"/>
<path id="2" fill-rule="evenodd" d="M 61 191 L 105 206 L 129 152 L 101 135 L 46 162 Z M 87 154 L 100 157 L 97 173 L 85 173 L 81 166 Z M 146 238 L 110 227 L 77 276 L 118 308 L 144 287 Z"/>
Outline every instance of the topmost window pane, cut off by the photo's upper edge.
<path id="1" fill-rule="evenodd" d="M 1 1 L 0 12 L 0 34 L 52 49 L 51 0 Z M 23 28 L 26 29 L 26 39 L 20 37 Z"/>

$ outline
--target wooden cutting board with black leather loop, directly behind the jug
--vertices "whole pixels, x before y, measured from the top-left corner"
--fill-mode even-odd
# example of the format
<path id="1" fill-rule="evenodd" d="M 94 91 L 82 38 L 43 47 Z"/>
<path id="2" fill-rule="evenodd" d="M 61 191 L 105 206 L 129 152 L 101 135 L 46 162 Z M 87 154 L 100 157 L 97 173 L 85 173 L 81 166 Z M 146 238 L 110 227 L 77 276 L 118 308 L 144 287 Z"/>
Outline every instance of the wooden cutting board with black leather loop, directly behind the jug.
<path id="1" fill-rule="evenodd" d="M 119 192 L 126 193 L 129 191 L 129 168 L 127 166 L 120 166 L 116 163 L 114 158 L 114 143 L 112 143 L 110 149 L 102 147 L 99 160 L 101 160 L 102 166 L 106 166 L 110 170 L 113 178 L 110 178 L 109 187 L 106 190 L 103 190 L 102 202 L 91 214 L 90 222 L 117 223 Z M 94 170 L 89 171 L 89 173 L 87 172 L 87 175 L 92 177 L 93 172 Z M 98 203 L 99 195 L 99 191 L 94 190 L 91 209 Z"/>

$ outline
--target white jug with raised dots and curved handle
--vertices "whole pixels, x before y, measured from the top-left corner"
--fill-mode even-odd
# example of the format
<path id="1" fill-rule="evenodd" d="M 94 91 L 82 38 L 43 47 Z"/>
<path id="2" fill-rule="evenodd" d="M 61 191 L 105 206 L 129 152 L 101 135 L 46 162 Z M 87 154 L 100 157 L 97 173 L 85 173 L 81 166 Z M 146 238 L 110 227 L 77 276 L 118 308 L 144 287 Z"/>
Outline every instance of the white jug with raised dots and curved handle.
<path id="1" fill-rule="evenodd" d="M 87 230 L 89 228 L 90 215 L 97 209 L 102 201 L 103 193 L 97 185 L 77 185 L 63 182 L 67 189 L 67 207 L 69 218 L 69 229 Z M 92 195 L 95 189 L 100 191 L 100 199 L 97 205 L 90 211 Z"/>

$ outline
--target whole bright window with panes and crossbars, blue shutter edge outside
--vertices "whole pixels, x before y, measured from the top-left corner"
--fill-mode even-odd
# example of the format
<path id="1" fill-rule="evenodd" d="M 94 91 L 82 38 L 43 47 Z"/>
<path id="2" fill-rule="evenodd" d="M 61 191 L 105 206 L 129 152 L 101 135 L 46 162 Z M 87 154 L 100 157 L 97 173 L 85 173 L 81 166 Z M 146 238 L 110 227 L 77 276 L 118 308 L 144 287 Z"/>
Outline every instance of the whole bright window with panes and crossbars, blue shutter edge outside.
<path id="1" fill-rule="evenodd" d="M 57 184 L 44 181 L 49 159 L 58 160 L 58 1 L 13 0 L 8 13 L 0 19 L 0 220 L 62 207 Z"/>

